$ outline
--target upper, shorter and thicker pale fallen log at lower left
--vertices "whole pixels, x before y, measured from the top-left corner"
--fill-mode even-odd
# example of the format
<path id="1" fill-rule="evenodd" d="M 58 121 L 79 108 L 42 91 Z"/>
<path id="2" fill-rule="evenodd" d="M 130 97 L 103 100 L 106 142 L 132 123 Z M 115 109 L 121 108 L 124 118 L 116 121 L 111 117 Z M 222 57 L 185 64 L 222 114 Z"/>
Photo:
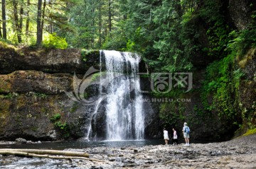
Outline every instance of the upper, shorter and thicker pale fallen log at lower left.
<path id="1" fill-rule="evenodd" d="M 41 150 L 41 149 L 14 149 L 14 148 L 0 148 L 0 151 L 15 151 L 24 153 L 35 153 L 35 154 L 50 154 L 60 156 L 77 156 L 77 157 L 89 157 L 88 153 L 75 152 L 75 151 L 58 151 L 58 150 Z"/>

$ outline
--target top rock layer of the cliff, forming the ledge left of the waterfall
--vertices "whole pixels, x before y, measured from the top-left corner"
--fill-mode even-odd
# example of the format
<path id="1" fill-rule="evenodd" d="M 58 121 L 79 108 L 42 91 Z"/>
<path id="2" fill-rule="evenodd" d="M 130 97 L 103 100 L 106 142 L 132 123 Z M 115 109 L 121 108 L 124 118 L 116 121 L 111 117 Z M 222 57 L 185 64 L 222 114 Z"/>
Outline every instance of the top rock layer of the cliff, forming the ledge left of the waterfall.
<path id="1" fill-rule="evenodd" d="M 80 49 L 16 49 L 0 45 L 0 74 L 18 70 L 36 70 L 48 73 L 84 74 L 90 66 L 99 62 L 99 51 L 90 52 L 86 64 Z"/>

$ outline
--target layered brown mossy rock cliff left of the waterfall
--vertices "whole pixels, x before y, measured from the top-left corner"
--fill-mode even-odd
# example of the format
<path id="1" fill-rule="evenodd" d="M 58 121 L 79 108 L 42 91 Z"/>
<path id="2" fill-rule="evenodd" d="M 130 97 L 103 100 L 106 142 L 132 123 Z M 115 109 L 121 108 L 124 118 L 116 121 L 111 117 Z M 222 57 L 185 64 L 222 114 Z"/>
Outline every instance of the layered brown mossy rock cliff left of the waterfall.
<path id="1" fill-rule="evenodd" d="M 83 54 L 80 49 L 16 49 L 3 44 L 0 49 L 0 140 L 86 137 L 95 106 L 75 102 L 65 92 L 73 91 L 74 72 L 82 79 L 91 66 L 99 69 L 99 51 Z M 85 97 L 93 99 L 97 88 L 87 88 Z M 146 129 L 150 130 L 158 114 L 145 107 L 150 114 Z M 95 135 L 105 139 L 104 104 L 94 120 L 91 139 Z M 146 137 L 152 134 L 149 131 Z"/>

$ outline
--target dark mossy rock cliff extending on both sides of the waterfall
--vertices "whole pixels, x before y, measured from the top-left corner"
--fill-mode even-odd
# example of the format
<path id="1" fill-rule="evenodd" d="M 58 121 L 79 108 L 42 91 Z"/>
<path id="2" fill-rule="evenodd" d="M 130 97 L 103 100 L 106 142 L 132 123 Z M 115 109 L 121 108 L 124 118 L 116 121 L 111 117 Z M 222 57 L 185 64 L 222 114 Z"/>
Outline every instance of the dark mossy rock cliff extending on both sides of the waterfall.
<path id="1" fill-rule="evenodd" d="M 82 105 L 68 98 L 65 92 L 73 91 L 73 74 L 84 76 L 90 66 L 97 68 L 99 52 L 93 51 L 82 57 L 79 49 L 31 50 L 0 46 L 0 140 L 15 140 L 18 137 L 33 141 L 78 139 L 86 137 L 90 124 L 89 112 L 93 105 Z M 237 97 L 240 100 L 245 123 L 255 124 L 255 49 L 238 60 L 247 78 L 240 82 Z M 86 60 L 86 62 L 84 61 Z M 141 65 L 143 70 L 143 64 Z M 218 115 L 200 114 L 200 88 L 204 70 L 193 72 L 193 92 L 178 95 L 185 101 L 160 101 L 150 93 L 144 94 L 145 139 L 162 138 L 164 122 L 159 112 L 171 110 L 172 127 L 181 139 L 183 117 L 190 121 L 193 139 L 230 139 L 233 129 Z M 142 91 L 150 91 L 149 78 L 141 79 Z M 85 91 L 85 97 L 92 99 L 97 86 Z M 178 115 L 178 116 L 177 116 Z M 105 106 L 102 104 L 92 120 L 91 138 L 97 135 L 105 139 Z M 189 123 L 189 122 L 188 122 Z M 171 133 L 171 128 L 169 129 Z"/>

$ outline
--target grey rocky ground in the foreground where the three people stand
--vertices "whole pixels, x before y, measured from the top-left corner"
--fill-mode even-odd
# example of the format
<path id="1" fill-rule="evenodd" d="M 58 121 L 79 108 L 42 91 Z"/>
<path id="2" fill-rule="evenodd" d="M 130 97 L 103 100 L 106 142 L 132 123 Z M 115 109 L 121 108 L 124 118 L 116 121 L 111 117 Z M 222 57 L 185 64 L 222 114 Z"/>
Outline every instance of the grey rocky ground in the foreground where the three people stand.
<path id="1" fill-rule="evenodd" d="M 256 134 L 232 141 L 184 146 L 127 146 L 66 149 L 90 153 L 84 160 L 52 160 L 0 155 L 0 168 L 256 168 Z"/>

